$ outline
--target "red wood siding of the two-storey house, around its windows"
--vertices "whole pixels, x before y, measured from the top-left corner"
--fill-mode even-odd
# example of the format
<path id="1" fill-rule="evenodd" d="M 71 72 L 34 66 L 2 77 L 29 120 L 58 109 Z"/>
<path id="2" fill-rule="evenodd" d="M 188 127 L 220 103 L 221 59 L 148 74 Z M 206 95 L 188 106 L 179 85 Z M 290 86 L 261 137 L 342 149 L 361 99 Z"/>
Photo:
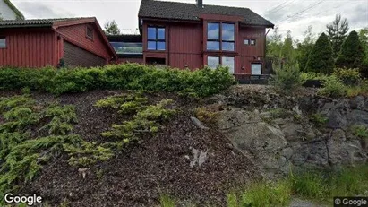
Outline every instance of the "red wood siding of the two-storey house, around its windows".
<path id="1" fill-rule="evenodd" d="M 143 60 L 147 57 L 166 58 L 171 67 L 190 69 L 201 68 L 207 65 L 207 56 L 234 56 L 235 73 L 251 73 L 252 63 L 261 63 L 264 70 L 265 56 L 265 28 L 243 27 L 239 25 L 240 17 L 226 15 L 201 15 L 202 21 L 191 22 L 164 22 L 144 20 L 142 25 Z M 206 51 L 207 22 L 235 23 L 235 51 Z M 147 27 L 149 25 L 166 28 L 166 51 L 147 50 Z M 245 46 L 244 39 L 256 39 L 255 46 Z"/>

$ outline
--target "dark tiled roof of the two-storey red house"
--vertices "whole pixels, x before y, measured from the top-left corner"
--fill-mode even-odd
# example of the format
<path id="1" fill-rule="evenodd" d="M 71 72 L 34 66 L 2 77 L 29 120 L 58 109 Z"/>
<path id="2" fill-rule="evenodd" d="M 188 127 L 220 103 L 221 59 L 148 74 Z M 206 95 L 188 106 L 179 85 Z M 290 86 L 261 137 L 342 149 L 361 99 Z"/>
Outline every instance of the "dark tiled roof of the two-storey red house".
<path id="1" fill-rule="evenodd" d="M 185 21 L 200 21 L 201 14 L 220 14 L 243 17 L 242 23 L 254 26 L 273 28 L 274 24 L 248 8 L 229 7 L 204 4 L 203 8 L 196 4 L 161 2 L 142 0 L 139 17 L 159 18 Z"/>

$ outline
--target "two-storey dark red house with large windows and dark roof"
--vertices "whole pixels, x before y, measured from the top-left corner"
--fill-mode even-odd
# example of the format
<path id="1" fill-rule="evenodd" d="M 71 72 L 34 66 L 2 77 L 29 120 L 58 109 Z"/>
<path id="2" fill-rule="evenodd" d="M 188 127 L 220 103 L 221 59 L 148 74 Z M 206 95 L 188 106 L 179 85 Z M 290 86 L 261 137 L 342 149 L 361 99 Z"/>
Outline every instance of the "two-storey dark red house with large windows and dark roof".
<path id="1" fill-rule="evenodd" d="M 227 65 L 230 73 L 269 73 L 264 66 L 266 29 L 274 25 L 250 9 L 202 4 L 202 0 L 196 4 L 142 0 L 139 24 L 140 54 L 127 52 L 138 46 L 138 38 L 129 42 L 121 36 L 120 46 L 116 37 L 109 39 L 120 48 L 121 61 L 141 58 L 145 64 L 176 68 Z"/>

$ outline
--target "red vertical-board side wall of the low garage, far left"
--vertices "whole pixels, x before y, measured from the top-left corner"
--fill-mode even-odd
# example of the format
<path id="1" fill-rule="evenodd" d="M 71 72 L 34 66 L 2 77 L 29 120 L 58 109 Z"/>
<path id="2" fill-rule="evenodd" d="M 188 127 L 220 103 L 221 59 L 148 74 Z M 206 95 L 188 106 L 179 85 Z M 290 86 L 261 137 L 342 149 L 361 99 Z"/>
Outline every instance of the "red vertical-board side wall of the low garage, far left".
<path id="1" fill-rule="evenodd" d="M 0 66 L 43 67 L 56 65 L 56 35 L 51 29 L 2 29 L 6 48 L 0 48 Z"/>

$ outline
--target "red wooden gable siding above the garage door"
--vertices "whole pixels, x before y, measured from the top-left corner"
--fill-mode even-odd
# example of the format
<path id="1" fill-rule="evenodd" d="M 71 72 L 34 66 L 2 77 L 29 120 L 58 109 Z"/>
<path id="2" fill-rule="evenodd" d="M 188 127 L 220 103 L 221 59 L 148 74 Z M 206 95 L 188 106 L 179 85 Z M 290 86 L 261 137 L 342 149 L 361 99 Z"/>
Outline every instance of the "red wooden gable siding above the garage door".
<path id="1" fill-rule="evenodd" d="M 93 29 L 93 39 L 86 37 L 86 28 L 89 26 Z M 107 49 L 107 45 L 103 38 L 98 33 L 97 27 L 93 24 L 83 23 L 73 26 L 65 26 L 56 29 L 56 32 L 61 34 L 64 40 L 73 43 L 97 56 L 106 59 L 107 63 L 111 59 L 111 54 Z"/>

